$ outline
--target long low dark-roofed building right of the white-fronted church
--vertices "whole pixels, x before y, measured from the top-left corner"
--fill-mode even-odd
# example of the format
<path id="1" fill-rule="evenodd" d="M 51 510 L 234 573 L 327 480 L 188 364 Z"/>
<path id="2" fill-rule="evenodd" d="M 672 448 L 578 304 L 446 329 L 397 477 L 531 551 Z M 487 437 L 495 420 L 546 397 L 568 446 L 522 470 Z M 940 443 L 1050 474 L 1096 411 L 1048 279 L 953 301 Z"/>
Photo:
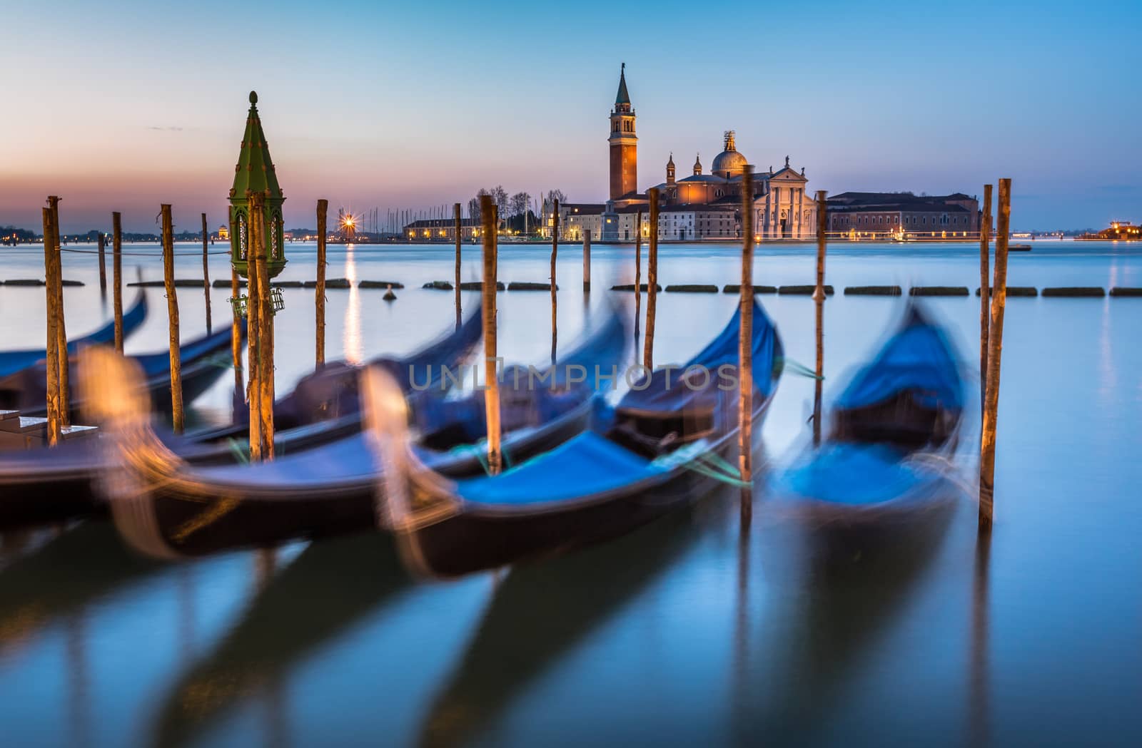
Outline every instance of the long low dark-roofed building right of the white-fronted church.
<path id="1" fill-rule="evenodd" d="M 830 234 L 965 237 L 980 231 L 980 203 L 963 193 L 841 193 L 828 198 Z"/>

